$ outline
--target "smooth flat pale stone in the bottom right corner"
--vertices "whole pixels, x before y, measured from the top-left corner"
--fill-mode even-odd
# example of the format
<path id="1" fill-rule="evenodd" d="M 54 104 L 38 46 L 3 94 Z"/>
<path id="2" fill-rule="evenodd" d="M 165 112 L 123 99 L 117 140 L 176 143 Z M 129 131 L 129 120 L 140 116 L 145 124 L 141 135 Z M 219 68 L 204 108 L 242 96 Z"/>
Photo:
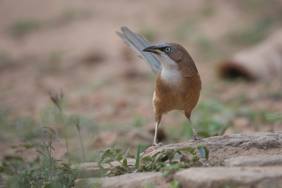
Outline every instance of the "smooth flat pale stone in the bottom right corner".
<path id="1" fill-rule="evenodd" d="M 282 185 L 282 166 L 190 168 L 175 173 L 182 188 L 266 188 Z"/>

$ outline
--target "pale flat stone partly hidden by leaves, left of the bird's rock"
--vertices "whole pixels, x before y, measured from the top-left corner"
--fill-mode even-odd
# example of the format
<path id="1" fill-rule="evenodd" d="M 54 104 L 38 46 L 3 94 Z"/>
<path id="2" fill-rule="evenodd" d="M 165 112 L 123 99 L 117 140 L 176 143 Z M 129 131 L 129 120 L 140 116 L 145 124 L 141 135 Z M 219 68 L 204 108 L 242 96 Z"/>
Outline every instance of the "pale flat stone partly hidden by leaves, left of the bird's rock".
<path id="1" fill-rule="evenodd" d="M 129 165 L 129 169 L 130 168 L 133 169 L 135 167 L 136 159 L 126 158 L 126 160 L 127 160 L 127 165 Z M 111 164 L 112 166 L 110 166 L 109 164 L 102 164 L 106 172 L 113 171 L 115 170 L 115 166 L 121 165 L 118 161 L 114 161 Z M 100 169 L 97 166 L 97 163 L 74 164 L 72 165 L 72 168 L 77 169 L 78 178 L 89 178 L 89 177 L 101 177 L 102 176 Z"/>

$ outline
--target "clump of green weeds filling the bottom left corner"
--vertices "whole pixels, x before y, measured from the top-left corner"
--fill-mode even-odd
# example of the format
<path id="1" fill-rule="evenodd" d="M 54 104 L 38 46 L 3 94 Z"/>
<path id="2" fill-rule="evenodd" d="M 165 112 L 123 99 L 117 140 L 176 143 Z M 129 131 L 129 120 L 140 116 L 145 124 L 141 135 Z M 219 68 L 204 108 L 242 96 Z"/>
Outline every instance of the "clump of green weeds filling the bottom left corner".
<path id="1" fill-rule="evenodd" d="M 76 170 L 71 168 L 68 163 L 61 163 L 62 167 L 57 167 L 55 160 L 52 156 L 52 150 L 55 151 L 52 146 L 52 138 L 56 136 L 56 131 L 53 127 L 43 127 L 44 133 L 49 134 L 49 140 L 47 143 L 43 142 L 40 144 L 38 149 L 40 156 L 42 157 L 42 163 L 40 163 L 39 157 L 35 161 L 30 163 L 24 163 L 22 157 L 11 156 L 6 158 L 0 166 L 0 173 L 5 173 L 10 177 L 5 180 L 5 184 L 8 187 L 28 187 L 28 188 L 39 188 L 39 187 L 61 187 L 70 188 L 74 186 L 74 180 L 76 179 Z M 32 145 L 20 145 L 25 149 L 33 148 Z M 41 148 L 41 151 L 39 151 Z M 33 165 L 39 165 L 39 168 L 31 167 Z M 21 167 L 23 166 L 23 167 Z M 29 170 L 31 169 L 31 170 Z"/>

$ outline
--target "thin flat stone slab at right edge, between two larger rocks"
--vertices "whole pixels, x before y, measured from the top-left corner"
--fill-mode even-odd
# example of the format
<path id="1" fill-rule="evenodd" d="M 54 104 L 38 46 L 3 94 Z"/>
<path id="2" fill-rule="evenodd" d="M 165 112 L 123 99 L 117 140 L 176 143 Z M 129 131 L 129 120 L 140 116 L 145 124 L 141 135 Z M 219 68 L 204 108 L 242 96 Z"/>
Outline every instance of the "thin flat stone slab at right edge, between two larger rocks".
<path id="1" fill-rule="evenodd" d="M 282 155 L 241 156 L 225 159 L 224 166 L 276 166 L 282 165 Z"/>

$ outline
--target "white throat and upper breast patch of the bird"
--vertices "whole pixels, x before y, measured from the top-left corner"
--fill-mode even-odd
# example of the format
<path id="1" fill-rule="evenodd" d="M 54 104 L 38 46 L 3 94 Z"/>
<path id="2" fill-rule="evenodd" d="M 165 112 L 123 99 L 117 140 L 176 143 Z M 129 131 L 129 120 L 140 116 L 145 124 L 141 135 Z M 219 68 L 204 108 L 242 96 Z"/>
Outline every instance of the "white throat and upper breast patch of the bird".
<path id="1" fill-rule="evenodd" d="M 178 70 L 178 65 L 170 59 L 166 54 L 158 55 L 160 62 L 163 65 L 161 78 L 169 85 L 177 85 L 182 80 L 181 72 Z"/>

